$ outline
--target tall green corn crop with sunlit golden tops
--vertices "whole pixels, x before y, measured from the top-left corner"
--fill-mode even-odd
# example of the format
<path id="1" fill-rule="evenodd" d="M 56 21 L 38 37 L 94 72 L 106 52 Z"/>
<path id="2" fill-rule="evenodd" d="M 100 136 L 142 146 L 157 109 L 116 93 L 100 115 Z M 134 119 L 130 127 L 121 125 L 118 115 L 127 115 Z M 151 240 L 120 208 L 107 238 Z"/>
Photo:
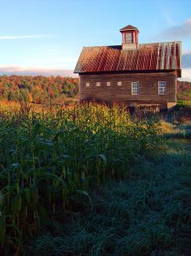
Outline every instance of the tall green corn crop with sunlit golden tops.
<path id="1" fill-rule="evenodd" d="M 129 178 L 137 155 L 158 147 L 158 131 L 158 121 L 132 121 L 117 107 L 1 111 L 1 253 L 21 253 L 23 240 L 73 201 L 91 207 L 93 186 Z"/>

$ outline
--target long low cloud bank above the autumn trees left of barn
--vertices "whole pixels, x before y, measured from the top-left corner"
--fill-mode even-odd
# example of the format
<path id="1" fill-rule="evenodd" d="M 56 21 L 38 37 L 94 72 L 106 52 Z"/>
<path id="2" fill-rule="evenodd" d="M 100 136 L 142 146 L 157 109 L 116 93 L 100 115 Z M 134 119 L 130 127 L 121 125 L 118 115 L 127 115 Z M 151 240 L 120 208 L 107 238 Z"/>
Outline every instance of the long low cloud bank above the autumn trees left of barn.
<path id="1" fill-rule="evenodd" d="M 0 75 L 30 75 L 30 76 L 63 76 L 63 77 L 78 77 L 70 69 L 51 69 L 51 68 L 38 68 L 38 67 L 0 67 Z"/>

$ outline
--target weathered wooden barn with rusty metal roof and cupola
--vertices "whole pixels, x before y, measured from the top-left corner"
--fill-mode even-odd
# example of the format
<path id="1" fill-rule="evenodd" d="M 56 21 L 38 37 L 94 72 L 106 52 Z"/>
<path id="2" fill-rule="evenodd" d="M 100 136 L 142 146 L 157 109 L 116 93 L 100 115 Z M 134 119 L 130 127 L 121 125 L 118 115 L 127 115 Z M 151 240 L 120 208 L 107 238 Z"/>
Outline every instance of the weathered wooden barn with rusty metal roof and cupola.
<path id="1" fill-rule="evenodd" d="M 124 26 L 120 32 L 120 45 L 82 49 L 74 70 L 79 75 L 80 102 L 174 107 L 181 42 L 139 44 L 135 26 Z"/>

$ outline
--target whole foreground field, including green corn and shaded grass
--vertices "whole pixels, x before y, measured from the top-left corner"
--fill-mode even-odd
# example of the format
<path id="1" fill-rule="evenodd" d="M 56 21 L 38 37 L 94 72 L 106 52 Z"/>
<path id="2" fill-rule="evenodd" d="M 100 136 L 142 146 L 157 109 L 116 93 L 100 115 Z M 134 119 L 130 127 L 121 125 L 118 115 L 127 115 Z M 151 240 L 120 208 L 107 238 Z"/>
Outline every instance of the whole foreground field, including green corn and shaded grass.
<path id="1" fill-rule="evenodd" d="M 1 110 L 1 254 L 190 255 L 191 123 L 178 111 Z"/>

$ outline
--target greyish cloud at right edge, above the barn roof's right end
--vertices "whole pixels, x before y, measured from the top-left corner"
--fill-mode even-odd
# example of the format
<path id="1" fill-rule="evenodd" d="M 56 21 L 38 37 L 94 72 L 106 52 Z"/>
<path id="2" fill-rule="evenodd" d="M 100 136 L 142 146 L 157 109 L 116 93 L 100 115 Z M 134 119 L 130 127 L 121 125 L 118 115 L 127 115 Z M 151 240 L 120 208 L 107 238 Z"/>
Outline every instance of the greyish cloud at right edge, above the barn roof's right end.
<path id="1" fill-rule="evenodd" d="M 191 37 L 191 19 L 186 20 L 182 25 L 171 26 L 162 32 L 164 38 L 189 38 Z"/>

